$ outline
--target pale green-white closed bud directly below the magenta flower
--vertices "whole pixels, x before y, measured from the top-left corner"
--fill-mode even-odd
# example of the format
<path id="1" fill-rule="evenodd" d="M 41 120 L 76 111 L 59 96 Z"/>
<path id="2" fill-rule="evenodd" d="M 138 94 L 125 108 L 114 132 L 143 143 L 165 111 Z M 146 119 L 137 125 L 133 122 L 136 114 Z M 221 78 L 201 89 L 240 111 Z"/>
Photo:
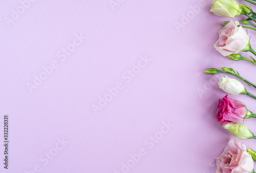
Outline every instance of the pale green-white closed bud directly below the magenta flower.
<path id="1" fill-rule="evenodd" d="M 226 128 L 231 134 L 240 139 L 251 139 L 254 138 L 254 134 L 243 124 L 230 123 L 224 124 L 224 128 Z"/>

